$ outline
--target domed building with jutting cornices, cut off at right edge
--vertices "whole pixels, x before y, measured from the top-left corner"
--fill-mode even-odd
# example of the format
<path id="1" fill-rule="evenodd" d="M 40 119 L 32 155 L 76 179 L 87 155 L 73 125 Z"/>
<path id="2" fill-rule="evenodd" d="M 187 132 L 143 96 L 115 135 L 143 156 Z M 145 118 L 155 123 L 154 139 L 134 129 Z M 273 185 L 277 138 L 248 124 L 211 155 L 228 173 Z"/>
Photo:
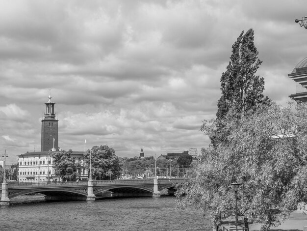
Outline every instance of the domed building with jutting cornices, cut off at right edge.
<path id="1" fill-rule="evenodd" d="M 307 102 L 307 58 L 300 61 L 288 77 L 296 82 L 296 93 L 289 97 L 295 101 Z"/>

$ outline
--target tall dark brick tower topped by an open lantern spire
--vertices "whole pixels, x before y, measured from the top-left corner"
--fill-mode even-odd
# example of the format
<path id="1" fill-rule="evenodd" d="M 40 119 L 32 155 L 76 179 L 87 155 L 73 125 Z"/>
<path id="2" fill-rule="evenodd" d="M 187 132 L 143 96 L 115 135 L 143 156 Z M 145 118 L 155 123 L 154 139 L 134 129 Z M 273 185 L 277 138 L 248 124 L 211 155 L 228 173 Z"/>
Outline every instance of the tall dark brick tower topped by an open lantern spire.
<path id="1" fill-rule="evenodd" d="M 51 103 L 51 94 L 46 104 L 46 112 L 42 120 L 41 151 L 58 150 L 58 125 L 55 119 L 54 104 Z M 53 149 L 54 148 L 54 149 Z M 54 150 L 54 151 L 55 151 Z"/>

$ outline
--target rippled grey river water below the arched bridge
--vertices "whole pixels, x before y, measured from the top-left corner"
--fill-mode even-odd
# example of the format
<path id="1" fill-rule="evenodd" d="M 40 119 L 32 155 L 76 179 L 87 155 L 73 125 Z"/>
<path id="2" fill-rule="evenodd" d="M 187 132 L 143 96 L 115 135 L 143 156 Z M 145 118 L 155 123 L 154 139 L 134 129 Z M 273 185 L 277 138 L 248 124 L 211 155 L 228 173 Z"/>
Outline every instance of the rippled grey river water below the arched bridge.
<path id="1" fill-rule="evenodd" d="M 176 208 L 175 197 L 42 202 L 20 196 L 0 207 L 1 231 L 212 231 L 192 207 Z"/>

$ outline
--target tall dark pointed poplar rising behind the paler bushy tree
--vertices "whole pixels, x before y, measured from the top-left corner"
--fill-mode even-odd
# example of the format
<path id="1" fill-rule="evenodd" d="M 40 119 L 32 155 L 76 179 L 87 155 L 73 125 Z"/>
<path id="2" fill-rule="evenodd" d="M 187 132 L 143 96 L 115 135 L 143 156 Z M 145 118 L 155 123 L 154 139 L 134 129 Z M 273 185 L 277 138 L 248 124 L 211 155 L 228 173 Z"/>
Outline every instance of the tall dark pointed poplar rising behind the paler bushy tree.
<path id="1" fill-rule="evenodd" d="M 260 105 L 269 103 L 269 99 L 262 94 L 264 79 L 256 76 L 261 62 L 254 44 L 254 30 L 249 29 L 245 34 L 242 31 L 232 45 L 230 62 L 221 77 L 222 96 L 217 104 L 217 129 L 210 136 L 214 146 L 225 142 L 229 131 L 225 130 L 223 118 L 230 108 L 235 112 L 234 115 L 240 118 L 247 113 L 256 112 Z"/>

